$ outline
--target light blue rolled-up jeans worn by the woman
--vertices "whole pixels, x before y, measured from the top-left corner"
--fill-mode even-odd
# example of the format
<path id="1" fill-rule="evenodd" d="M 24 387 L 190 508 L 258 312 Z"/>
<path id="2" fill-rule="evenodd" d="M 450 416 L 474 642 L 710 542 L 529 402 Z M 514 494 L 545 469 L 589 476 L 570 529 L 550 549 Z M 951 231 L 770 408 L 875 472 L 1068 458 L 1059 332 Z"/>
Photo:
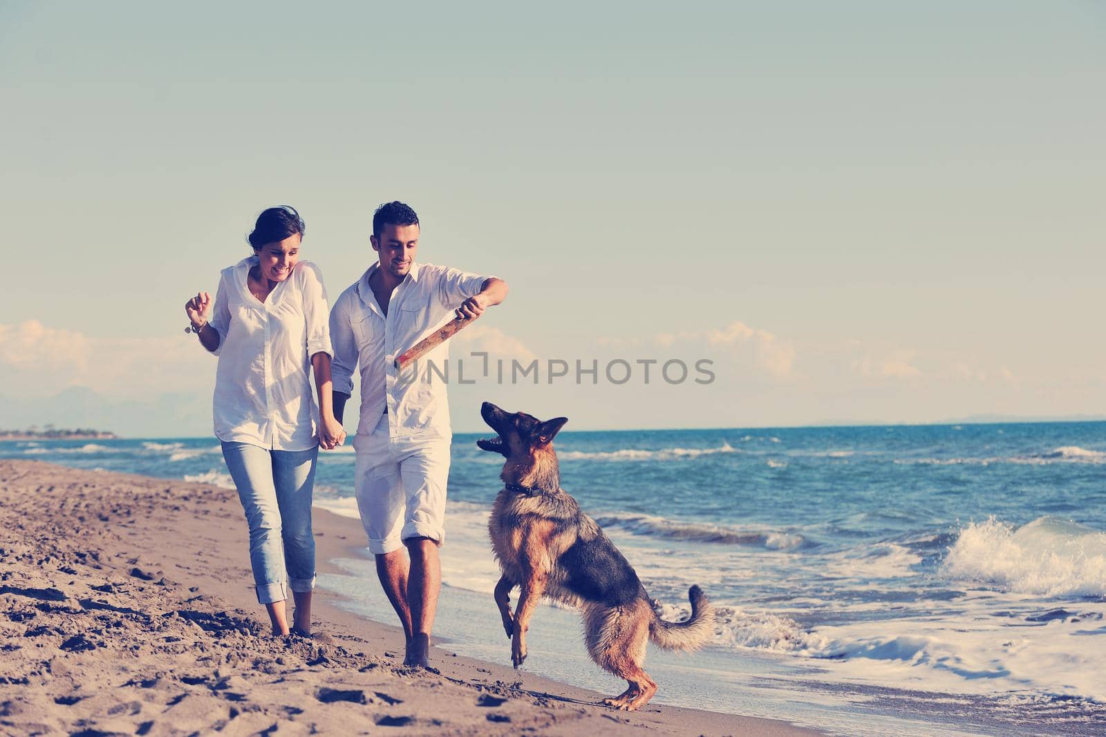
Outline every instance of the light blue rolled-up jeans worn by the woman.
<path id="1" fill-rule="evenodd" d="M 319 448 L 271 451 L 249 443 L 223 443 L 222 457 L 250 525 L 250 566 L 258 601 L 284 601 L 289 589 L 311 591 L 315 588 L 311 492 Z"/>

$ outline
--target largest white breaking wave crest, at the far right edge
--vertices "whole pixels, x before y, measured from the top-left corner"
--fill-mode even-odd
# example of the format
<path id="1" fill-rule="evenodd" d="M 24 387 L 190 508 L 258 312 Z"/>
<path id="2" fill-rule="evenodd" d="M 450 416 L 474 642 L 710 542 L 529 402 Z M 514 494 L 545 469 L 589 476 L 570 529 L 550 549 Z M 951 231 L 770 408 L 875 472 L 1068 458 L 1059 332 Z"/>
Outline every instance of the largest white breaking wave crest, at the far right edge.
<path id="1" fill-rule="evenodd" d="M 1055 517 L 971 523 L 942 565 L 953 579 L 1054 598 L 1106 596 L 1106 533 Z"/>

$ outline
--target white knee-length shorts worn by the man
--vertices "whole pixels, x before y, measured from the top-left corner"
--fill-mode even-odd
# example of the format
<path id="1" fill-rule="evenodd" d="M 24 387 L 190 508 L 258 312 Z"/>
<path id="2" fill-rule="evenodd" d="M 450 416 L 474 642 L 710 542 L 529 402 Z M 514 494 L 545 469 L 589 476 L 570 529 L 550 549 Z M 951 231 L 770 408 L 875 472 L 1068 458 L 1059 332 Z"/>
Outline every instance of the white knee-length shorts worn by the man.
<path id="1" fill-rule="evenodd" d="M 388 439 L 388 415 L 373 434 L 354 439 L 357 512 L 368 535 L 369 552 L 398 550 L 404 540 L 446 539 L 446 483 L 449 440 Z"/>

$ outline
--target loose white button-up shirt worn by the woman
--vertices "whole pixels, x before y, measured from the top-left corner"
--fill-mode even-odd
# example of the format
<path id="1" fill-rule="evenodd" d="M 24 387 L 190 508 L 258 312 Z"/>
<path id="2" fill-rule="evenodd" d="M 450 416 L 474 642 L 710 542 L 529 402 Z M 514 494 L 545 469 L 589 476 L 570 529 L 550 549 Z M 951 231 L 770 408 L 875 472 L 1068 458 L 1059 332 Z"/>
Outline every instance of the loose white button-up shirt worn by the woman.
<path id="1" fill-rule="evenodd" d="M 301 261 L 261 302 L 250 293 L 249 256 L 222 270 L 211 327 L 219 333 L 215 434 L 275 451 L 319 444 L 311 357 L 334 355 L 319 267 Z"/>

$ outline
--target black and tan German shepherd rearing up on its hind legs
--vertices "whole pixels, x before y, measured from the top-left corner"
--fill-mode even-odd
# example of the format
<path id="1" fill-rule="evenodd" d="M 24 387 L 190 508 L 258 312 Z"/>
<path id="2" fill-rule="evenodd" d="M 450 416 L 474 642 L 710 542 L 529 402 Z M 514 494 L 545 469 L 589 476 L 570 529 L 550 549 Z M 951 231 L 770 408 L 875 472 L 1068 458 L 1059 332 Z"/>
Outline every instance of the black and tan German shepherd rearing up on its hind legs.
<path id="1" fill-rule="evenodd" d="M 603 703 L 636 709 L 657 693 L 641 670 L 646 642 L 667 650 L 698 650 L 714 631 L 714 610 L 692 586 L 691 618 L 666 622 L 654 611 L 637 573 L 576 499 L 561 488 L 553 438 L 568 420 L 542 422 L 523 412 L 509 413 L 491 402 L 480 408 L 497 436 L 477 445 L 507 457 L 503 491 L 495 497 L 488 531 L 503 575 L 495 603 L 511 638 L 511 661 L 526 659 L 526 630 L 544 596 L 578 609 L 584 618 L 587 652 L 601 667 L 626 678 L 629 687 Z M 511 613 L 511 590 L 520 587 Z"/>

